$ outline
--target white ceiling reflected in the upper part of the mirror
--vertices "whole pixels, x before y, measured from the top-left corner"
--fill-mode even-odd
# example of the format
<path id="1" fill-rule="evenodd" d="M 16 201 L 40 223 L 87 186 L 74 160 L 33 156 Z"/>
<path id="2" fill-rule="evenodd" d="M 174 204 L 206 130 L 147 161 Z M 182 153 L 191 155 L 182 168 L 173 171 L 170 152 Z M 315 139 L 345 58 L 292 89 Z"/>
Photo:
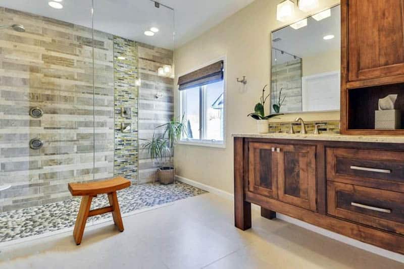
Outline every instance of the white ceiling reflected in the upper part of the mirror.
<path id="1" fill-rule="evenodd" d="M 291 55 L 304 58 L 312 57 L 340 49 L 341 42 L 341 12 L 340 6 L 331 9 L 331 17 L 321 21 L 308 18 L 307 26 L 297 30 L 286 26 L 272 33 L 272 47 L 283 50 Z M 326 35 L 334 35 L 334 38 L 324 40 Z M 274 42 L 274 39 L 280 38 Z M 288 54 L 277 53 L 277 63 L 290 61 Z"/>

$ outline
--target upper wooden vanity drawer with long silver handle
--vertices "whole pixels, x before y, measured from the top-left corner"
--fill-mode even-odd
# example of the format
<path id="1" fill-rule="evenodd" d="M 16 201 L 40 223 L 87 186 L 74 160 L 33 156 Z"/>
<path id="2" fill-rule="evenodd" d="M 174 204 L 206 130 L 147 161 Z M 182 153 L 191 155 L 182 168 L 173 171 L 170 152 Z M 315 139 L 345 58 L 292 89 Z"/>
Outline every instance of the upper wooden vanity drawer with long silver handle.
<path id="1" fill-rule="evenodd" d="M 327 148 L 327 180 L 404 192 L 404 152 Z"/>

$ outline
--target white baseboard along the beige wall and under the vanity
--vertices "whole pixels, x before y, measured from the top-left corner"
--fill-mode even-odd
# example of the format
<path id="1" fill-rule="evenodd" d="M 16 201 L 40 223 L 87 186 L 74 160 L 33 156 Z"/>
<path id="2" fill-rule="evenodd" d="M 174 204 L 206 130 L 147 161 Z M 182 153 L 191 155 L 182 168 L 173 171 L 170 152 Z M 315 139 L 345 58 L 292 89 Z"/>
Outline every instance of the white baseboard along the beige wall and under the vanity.
<path id="1" fill-rule="evenodd" d="M 229 199 L 229 200 L 234 200 L 234 195 L 232 193 L 229 193 L 229 192 L 217 189 L 215 187 L 212 187 L 212 186 L 209 186 L 209 185 L 206 185 L 206 184 L 202 184 L 202 183 L 199 183 L 197 181 L 190 180 L 190 179 L 187 179 L 187 178 L 184 178 L 184 177 L 180 177 L 180 176 L 175 176 L 175 177 L 176 177 L 176 179 L 178 181 L 183 182 L 185 184 L 188 184 L 188 185 L 194 186 L 196 188 L 208 191 L 210 193 L 217 194 L 217 195 L 219 195 L 219 196 L 221 196 L 223 198 Z M 256 205 L 256 204 L 252 204 L 252 209 L 253 210 L 260 210 L 261 207 L 259 205 Z M 386 257 L 386 258 L 389 258 L 389 259 L 396 260 L 398 262 L 404 263 L 404 255 L 401 255 L 401 254 L 398 254 L 398 253 L 395 253 L 395 252 L 392 252 L 392 251 L 388 251 L 388 250 L 385 250 L 383 248 L 376 247 L 374 245 L 363 243 L 361 241 L 352 239 L 350 237 L 340 235 L 340 234 L 328 231 L 326 229 L 323 229 L 321 227 L 314 226 L 312 224 L 309 224 L 309 223 L 306 223 L 306 222 L 303 222 L 303 221 L 288 217 L 288 216 L 286 216 L 284 214 L 276 213 L 276 218 L 280 219 L 280 220 L 283 220 L 285 222 L 297 225 L 299 227 L 305 228 L 305 229 L 310 230 L 312 232 L 321 234 L 323 236 L 332 238 L 334 240 L 343 242 L 343 243 L 348 244 L 350 246 L 354 246 L 354 247 L 357 247 L 357 248 L 372 252 L 374 254 L 377 254 L 377 255 L 380 255 L 380 256 L 383 256 L 383 257 Z"/>

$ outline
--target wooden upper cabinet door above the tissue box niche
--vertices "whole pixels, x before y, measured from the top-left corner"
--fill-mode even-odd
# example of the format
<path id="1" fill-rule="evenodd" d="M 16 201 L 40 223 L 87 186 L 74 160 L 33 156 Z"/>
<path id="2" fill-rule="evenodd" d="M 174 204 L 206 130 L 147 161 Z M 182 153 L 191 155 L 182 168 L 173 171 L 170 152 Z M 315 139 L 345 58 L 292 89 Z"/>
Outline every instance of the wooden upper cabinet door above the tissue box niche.
<path id="1" fill-rule="evenodd" d="M 403 1 L 344 0 L 342 5 L 344 2 L 347 81 L 404 74 Z"/>

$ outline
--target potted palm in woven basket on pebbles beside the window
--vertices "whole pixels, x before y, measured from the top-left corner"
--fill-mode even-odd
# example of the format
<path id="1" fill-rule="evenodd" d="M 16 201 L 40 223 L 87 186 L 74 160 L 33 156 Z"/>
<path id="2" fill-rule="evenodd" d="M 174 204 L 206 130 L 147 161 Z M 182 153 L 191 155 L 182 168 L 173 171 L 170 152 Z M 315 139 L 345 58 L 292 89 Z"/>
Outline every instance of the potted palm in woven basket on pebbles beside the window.
<path id="1" fill-rule="evenodd" d="M 141 139 L 146 141 L 142 145 L 142 149 L 147 150 L 151 159 L 157 161 L 158 178 L 162 184 L 171 184 L 174 182 L 174 148 L 181 137 L 187 136 L 184 117 L 181 121 L 175 118 L 166 124 L 155 128 L 165 128 L 163 134 L 156 135 L 153 133 L 151 139 Z"/>

